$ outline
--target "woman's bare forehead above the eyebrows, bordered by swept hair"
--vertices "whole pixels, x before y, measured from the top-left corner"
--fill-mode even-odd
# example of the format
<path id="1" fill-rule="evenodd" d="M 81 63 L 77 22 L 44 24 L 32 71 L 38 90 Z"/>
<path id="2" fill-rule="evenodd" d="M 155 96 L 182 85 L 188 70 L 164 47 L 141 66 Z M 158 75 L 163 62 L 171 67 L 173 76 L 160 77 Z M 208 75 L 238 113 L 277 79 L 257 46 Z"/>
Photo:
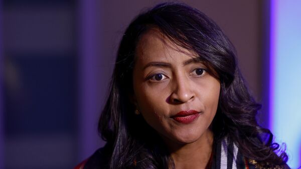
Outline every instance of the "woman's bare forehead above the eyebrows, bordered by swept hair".
<path id="1" fill-rule="evenodd" d="M 141 36 L 135 53 L 136 60 L 181 60 L 184 58 L 197 58 L 198 55 L 179 45 L 176 45 L 159 29 L 150 29 Z"/>

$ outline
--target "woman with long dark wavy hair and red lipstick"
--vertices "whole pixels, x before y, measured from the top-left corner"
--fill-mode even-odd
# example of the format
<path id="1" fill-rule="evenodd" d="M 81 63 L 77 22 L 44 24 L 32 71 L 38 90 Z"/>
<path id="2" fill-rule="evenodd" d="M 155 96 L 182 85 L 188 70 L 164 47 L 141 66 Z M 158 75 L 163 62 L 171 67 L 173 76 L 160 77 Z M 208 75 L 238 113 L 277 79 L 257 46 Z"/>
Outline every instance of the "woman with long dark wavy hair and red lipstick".
<path id="1" fill-rule="evenodd" d="M 196 9 L 165 3 L 140 14 L 122 37 L 99 120 L 107 143 L 78 167 L 288 168 L 257 124 L 260 105 L 235 55 Z"/>

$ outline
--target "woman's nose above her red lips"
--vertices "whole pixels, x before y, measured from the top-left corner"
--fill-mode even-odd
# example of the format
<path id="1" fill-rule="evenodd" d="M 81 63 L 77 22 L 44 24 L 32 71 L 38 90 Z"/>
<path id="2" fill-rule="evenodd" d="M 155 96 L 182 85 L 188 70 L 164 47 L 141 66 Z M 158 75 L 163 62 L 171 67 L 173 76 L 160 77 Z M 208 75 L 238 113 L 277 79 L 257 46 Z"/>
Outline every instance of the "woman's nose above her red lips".
<path id="1" fill-rule="evenodd" d="M 178 78 L 173 85 L 173 93 L 170 95 L 170 103 L 182 104 L 195 98 L 194 90 L 189 83 L 189 79 Z"/>

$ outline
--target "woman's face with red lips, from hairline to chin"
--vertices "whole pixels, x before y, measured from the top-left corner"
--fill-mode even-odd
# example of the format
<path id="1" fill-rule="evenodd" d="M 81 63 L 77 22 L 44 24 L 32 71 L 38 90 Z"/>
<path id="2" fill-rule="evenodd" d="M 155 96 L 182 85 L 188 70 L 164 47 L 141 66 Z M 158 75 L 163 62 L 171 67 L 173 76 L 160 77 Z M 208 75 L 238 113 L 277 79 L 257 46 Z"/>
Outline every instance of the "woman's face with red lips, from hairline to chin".
<path id="1" fill-rule="evenodd" d="M 196 54 L 150 30 L 139 40 L 135 59 L 134 102 L 145 121 L 175 143 L 204 137 L 216 114 L 220 82 Z"/>

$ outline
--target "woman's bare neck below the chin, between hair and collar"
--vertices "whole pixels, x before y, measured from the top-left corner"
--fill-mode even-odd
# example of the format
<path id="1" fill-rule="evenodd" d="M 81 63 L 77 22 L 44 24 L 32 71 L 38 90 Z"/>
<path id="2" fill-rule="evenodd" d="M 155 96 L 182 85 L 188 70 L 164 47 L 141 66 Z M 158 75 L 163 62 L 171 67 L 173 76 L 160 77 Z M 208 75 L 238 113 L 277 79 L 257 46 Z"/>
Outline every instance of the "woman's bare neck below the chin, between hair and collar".
<path id="1" fill-rule="evenodd" d="M 176 169 L 204 169 L 212 153 L 213 133 L 206 131 L 197 141 L 189 144 L 168 143 Z"/>

